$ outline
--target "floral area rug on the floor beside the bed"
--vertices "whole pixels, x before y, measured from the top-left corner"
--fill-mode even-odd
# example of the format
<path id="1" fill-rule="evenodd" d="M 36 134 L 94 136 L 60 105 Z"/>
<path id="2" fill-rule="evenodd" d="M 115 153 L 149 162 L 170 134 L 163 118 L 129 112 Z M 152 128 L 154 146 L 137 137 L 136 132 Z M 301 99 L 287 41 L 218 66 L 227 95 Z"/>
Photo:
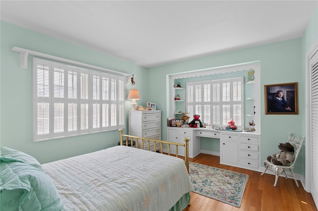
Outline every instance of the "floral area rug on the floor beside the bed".
<path id="1" fill-rule="evenodd" d="M 240 207 L 248 180 L 247 174 L 190 162 L 189 175 L 193 192 Z"/>

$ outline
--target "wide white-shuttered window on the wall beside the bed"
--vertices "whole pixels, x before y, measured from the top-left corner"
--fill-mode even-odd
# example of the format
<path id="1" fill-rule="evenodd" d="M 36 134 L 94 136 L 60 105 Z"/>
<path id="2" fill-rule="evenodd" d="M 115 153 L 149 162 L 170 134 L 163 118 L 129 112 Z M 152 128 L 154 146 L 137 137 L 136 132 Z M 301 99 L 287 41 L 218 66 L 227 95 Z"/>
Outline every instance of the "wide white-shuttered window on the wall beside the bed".
<path id="1" fill-rule="evenodd" d="M 33 58 L 34 141 L 125 125 L 124 77 Z"/>

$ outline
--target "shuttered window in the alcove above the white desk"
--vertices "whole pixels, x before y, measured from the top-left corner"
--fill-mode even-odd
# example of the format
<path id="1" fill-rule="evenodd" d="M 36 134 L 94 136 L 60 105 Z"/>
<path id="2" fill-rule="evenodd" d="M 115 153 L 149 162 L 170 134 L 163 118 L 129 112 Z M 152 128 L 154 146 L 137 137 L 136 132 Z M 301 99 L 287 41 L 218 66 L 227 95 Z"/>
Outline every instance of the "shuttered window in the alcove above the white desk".
<path id="1" fill-rule="evenodd" d="M 189 82 L 186 84 L 186 110 L 199 114 L 203 123 L 225 126 L 231 119 L 243 127 L 243 77 Z M 193 119 L 190 115 L 189 121 Z"/>

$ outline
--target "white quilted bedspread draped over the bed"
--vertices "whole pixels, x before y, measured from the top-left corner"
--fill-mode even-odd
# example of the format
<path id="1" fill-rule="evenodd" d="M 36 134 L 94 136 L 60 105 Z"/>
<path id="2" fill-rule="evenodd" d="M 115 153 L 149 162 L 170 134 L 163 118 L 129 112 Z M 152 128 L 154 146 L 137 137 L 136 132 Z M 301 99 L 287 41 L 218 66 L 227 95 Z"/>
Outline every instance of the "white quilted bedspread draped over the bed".
<path id="1" fill-rule="evenodd" d="M 65 210 L 166 211 L 193 190 L 184 160 L 126 146 L 42 166 Z"/>

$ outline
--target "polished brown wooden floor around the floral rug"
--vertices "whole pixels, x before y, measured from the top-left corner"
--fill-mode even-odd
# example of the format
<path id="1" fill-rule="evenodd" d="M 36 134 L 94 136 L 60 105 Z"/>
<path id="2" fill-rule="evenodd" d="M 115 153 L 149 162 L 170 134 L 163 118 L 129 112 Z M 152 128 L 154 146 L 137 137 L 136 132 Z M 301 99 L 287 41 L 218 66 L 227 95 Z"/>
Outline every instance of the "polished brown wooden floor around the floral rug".
<path id="1" fill-rule="evenodd" d="M 297 187 L 292 179 L 220 164 L 220 157 L 200 154 L 189 161 L 248 174 L 240 208 L 191 192 L 190 206 L 184 211 L 317 211 L 314 200 L 301 182 Z"/>

